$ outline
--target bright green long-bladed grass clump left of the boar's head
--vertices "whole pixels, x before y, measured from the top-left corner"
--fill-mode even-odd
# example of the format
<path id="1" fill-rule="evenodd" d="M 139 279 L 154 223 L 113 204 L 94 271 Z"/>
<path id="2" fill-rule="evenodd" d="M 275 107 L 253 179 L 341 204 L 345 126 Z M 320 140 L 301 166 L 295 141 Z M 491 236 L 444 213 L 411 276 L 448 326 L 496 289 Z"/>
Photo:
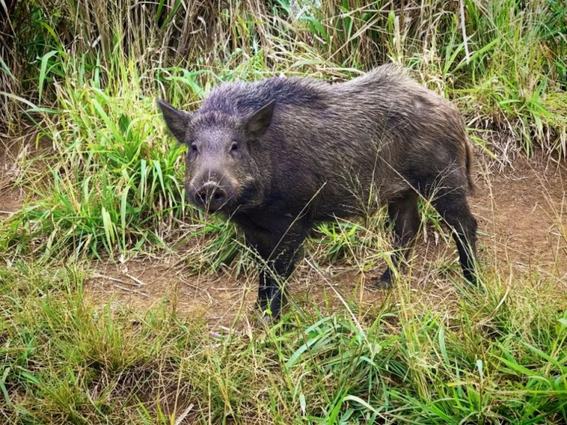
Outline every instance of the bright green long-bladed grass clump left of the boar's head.
<path id="1" fill-rule="evenodd" d="M 186 210 L 181 147 L 156 131 L 152 100 L 137 98 L 137 77 L 128 77 L 134 86 L 120 97 L 96 80 L 60 89 L 56 116 L 42 130 L 52 157 L 40 180 L 24 182 L 39 200 L 12 218 L 45 256 L 63 246 L 96 256 L 125 251 L 159 239 Z"/>

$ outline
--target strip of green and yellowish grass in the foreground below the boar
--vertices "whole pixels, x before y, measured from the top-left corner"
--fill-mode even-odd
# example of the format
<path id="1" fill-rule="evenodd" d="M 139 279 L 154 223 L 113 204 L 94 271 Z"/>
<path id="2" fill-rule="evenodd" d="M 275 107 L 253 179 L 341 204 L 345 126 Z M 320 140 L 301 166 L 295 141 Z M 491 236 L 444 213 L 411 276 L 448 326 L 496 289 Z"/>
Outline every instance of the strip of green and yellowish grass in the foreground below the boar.
<path id="1" fill-rule="evenodd" d="M 165 305 L 94 307 L 86 275 L 0 269 L 4 423 L 171 424 L 190 404 L 199 423 L 567 419 L 567 315 L 530 282 L 495 280 L 453 312 L 403 283 L 361 322 L 296 306 L 250 339 Z"/>

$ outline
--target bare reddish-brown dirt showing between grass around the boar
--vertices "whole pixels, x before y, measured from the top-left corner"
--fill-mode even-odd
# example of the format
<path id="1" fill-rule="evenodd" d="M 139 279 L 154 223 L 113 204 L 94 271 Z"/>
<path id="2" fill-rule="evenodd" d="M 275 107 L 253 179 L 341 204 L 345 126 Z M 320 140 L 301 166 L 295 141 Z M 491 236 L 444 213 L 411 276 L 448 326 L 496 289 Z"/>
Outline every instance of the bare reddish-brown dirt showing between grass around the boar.
<path id="1" fill-rule="evenodd" d="M 14 150 L 0 143 L 0 220 L 21 208 L 24 200 L 23 193 L 11 188 L 17 174 L 12 166 Z M 558 165 L 538 158 L 528 162 L 521 157 L 500 173 L 479 158 L 476 174 L 476 192 L 469 200 L 479 222 L 483 267 L 515 282 L 551 280 L 558 293 L 567 293 L 565 162 Z M 459 295 L 452 282 L 460 278 L 446 271 L 451 261 L 452 268 L 458 269 L 454 244 L 431 233 L 427 242 L 423 238 L 418 242 L 411 270 L 406 272 L 410 278 L 400 284 L 408 285 L 422 304 L 456 305 Z M 181 258 L 182 253 L 137 256 L 118 264 L 94 261 L 86 280 L 87 296 L 101 305 L 111 302 L 113 307 L 139 312 L 166 303 L 187 316 L 204 317 L 212 329 L 247 327 L 257 291 L 254 272 L 238 278 L 230 269 L 191 276 Z M 292 299 L 308 309 L 346 309 L 348 305 L 361 318 L 380 310 L 388 299 L 396 302 L 391 291 L 371 285 L 369 278 L 377 273 L 359 273 L 356 266 L 340 261 L 318 268 L 307 256 L 291 280 Z"/>

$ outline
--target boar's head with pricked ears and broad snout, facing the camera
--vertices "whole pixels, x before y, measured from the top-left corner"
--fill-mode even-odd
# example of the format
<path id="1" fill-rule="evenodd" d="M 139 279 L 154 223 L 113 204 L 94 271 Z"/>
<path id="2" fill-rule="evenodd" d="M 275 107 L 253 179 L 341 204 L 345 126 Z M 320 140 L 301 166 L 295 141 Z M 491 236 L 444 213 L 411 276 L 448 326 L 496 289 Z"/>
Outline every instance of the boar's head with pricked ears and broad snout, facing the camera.
<path id="1" fill-rule="evenodd" d="M 262 204 L 269 172 L 259 139 L 271 123 L 274 104 L 240 118 L 219 111 L 189 114 L 158 101 L 167 128 L 187 146 L 189 202 L 228 215 Z"/>

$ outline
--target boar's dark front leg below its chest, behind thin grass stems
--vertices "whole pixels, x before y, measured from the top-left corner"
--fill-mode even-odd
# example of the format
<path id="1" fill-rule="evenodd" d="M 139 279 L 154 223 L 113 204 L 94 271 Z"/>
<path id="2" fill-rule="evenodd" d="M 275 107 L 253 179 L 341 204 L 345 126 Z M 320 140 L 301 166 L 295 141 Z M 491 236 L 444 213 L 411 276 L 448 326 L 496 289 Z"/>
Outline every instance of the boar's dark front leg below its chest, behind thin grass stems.
<path id="1" fill-rule="evenodd" d="M 247 244 L 257 251 L 262 264 L 257 307 L 266 323 L 279 319 L 286 305 L 286 280 L 291 276 L 310 225 L 296 221 L 277 223 L 271 229 L 245 226 Z"/>

